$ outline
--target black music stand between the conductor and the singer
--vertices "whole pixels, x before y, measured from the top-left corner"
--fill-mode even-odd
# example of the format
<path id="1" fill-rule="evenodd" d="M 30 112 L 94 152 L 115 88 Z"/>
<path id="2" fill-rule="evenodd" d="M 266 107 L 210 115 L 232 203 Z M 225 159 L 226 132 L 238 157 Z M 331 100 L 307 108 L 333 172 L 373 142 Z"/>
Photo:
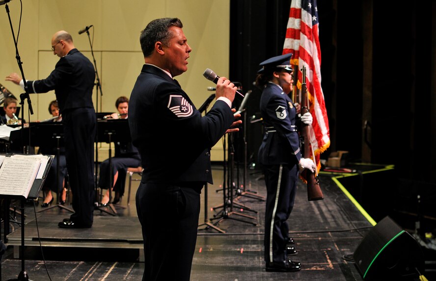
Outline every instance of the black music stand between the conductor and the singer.
<path id="1" fill-rule="evenodd" d="M 97 131 L 99 142 L 109 143 L 109 203 L 108 206 L 112 210 L 112 213 L 99 206 L 96 202 L 97 208 L 100 211 L 106 212 L 115 216 L 117 214 L 115 207 L 112 204 L 112 142 L 131 142 L 130 128 L 127 119 L 107 119 L 97 121 Z M 97 196 L 95 197 L 97 199 Z M 121 207 L 121 206 L 120 206 Z"/>

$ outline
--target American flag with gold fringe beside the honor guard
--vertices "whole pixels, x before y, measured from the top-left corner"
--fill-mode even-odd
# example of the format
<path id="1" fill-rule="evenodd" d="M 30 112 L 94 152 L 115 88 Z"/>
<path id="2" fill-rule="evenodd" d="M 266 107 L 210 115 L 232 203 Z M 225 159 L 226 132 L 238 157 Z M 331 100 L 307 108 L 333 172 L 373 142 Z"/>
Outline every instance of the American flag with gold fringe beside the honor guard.
<path id="1" fill-rule="evenodd" d="M 316 0 L 292 0 L 283 54 L 292 52 L 291 64 L 298 66 L 297 87 L 301 89 L 301 69 L 306 67 L 306 86 L 313 123 L 310 139 L 318 171 L 320 154 L 330 146 L 330 132 L 321 88 L 321 48 Z"/>

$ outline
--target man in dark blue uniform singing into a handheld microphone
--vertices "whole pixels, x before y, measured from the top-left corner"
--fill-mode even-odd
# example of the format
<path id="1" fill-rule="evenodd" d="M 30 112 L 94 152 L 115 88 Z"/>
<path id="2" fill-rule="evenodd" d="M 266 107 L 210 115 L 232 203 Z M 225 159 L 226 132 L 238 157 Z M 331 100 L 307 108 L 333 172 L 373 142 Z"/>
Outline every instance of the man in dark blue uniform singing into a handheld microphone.
<path id="1" fill-rule="evenodd" d="M 190 280 L 200 192 L 212 183 L 210 149 L 240 117 L 231 109 L 236 87 L 225 77 L 205 116 L 173 80 L 187 71 L 191 52 L 182 27 L 179 19 L 164 18 L 141 31 L 145 65 L 130 96 L 132 142 L 144 169 L 136 210 L 147 281 Z"/>

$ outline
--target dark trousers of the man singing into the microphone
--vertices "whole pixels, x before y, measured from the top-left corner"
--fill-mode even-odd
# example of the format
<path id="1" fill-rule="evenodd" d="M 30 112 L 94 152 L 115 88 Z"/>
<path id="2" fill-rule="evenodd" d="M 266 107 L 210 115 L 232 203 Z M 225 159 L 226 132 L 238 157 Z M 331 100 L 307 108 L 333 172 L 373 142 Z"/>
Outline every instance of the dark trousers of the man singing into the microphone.
<path id="1" fill-rule="evenodd" d="M 200 189 L 141 181 L 136 211 L 142 226 L 143 281 L 189 281 L 197 240 Z"/>

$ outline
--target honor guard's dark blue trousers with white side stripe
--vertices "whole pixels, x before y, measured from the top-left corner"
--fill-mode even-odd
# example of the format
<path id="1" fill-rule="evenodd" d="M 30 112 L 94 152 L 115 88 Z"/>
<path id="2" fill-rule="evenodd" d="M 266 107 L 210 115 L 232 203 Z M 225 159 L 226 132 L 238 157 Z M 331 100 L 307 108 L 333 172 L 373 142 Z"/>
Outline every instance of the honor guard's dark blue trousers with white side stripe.
<path id="1" fill-rule="evenodd" d="M 286 222 L 294 207 L 298 180 L 297 165 L 264 165 L 267 202 L 265 209 L 265 261 L 287 258 L 289 226 Z"/>

